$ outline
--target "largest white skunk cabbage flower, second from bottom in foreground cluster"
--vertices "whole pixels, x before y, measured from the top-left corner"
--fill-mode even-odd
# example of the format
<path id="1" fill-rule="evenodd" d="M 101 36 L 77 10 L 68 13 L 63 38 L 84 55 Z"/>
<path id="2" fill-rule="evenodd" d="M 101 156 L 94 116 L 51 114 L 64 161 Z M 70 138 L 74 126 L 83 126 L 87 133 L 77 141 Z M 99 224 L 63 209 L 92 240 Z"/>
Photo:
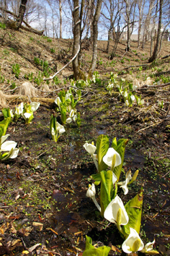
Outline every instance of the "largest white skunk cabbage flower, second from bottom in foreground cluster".
<path id="1" fill-rule="evenodd" d="M 119 226 L 128 224 L 128 213 L 118 195 L 107 205 L 107 208 L 104 210 L 104 218 Z"/>

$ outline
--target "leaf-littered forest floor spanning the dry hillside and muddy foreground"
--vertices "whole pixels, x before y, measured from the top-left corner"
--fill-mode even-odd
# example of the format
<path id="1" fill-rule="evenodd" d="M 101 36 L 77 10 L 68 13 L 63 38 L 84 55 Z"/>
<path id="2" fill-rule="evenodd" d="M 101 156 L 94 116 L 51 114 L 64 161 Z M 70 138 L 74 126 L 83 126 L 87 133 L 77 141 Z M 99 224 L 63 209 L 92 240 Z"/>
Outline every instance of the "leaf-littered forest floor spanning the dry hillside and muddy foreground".
<path id="1" fill-rule="evenodd" d="M 108 225 L 86 197 L 95 166 L 83 145 L 95 143 L 102 134 L 110 141 L 128 138 L 123 168 L 132 173 L 138 169 L 139 174 L 128 195 L 120 192 L 121 198 L 127 202 L 143 186 L 140 237 L 145 244 L 156 239 L 155 249 L 170 255 L 170 86 L 158 84 L 170 82 L 170 57 L 161 59 L 170 54 L 170 43 L 164 42 L 159 59 L 148 64 L 149 43 L 142 50 L 132 42 L 128 53 L 125 43 L 119 43 L 110 60 L 105 52 L 107 42 L 99 41 L 97 71 L 102 82 L 83 88 L 76 106 L 81 127 L 67 125 L 58 142 L 53 142 L 50 115 L 56 108 L 54 100 L 59 89 L 70 85 L 73 71 L 69 65 L 55 82 L 45 83 L 40 77 L 40 61 L 48 61 L 54 74 L 71 59 L 72 41 L 2 28 L 0 40 L 1 108 L 9 106 L 14 111 L 22 101 L 36 98 L 41 102 L 31 124 L 25 125 L 24 119 L 12 121 L 6 132 L 17 142 L 19 155 L 0 163 L 0 255 L 66 256 L 78 252 L 81 256 L 86 235 L 98 246 L 110 246 L 109 255 L 122 255 L 116 226 Z M 114 43 L 110 45 L 111 51 Z M 84 44 L 82 69 L 88 69 L 90 61 L 91 47 Z M 126 85 L 136 86 L 135 95 L 144 99 L 143 106 L 126 106 L 117 88 L 109 95 L 110 72 L 118 74 L 117 80 L 124 78 Z M 25 81 L 36 90 L 24 91 Z"/>

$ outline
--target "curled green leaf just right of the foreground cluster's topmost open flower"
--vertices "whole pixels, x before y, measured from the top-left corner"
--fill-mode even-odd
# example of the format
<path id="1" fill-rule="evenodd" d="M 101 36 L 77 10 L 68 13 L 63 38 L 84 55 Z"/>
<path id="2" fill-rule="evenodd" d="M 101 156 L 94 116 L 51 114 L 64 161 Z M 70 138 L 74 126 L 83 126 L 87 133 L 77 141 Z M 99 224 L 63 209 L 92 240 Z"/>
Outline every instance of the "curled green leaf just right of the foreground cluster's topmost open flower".
<path id="1" fill-rule="evenodd" d="M 119 166 L 116 166 L 113 170 L 118 180 L 120 179 L 120 174 L 122 171 L 122 165 L 125 157 L 125 146 L 127 142 L 128 142 L 128 139 L 120 139 L 117 141 L 117 145 L 116 145 L 115 138 L 112 140 L 112 148 L 114 148 L 117 151 L 117 153 L 120 154 L 120 157 L 122 160 L 122 163 Z"/>

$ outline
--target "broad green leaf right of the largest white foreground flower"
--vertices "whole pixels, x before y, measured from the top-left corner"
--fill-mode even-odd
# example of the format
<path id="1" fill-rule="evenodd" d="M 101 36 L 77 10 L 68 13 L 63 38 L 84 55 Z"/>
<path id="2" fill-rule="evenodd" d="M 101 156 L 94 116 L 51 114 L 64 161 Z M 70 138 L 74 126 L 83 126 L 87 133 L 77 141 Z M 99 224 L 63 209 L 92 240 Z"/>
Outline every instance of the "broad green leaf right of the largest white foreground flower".
<path id="1" fill-rule="evenodd" d="M 129 234 L 129 228 L 135 229 L 135 231 L 140 231 L 140 224 L 141 224 L 141 215 L 142 215 L 142 205 L 143 205 L 143 188 L 140 189 L 137 195 L 127 204 L 125 205 L 125 209 L 129 216 L 129 222 L 127 225 L 122 226 L 123 231 L 125 234 Z"/>

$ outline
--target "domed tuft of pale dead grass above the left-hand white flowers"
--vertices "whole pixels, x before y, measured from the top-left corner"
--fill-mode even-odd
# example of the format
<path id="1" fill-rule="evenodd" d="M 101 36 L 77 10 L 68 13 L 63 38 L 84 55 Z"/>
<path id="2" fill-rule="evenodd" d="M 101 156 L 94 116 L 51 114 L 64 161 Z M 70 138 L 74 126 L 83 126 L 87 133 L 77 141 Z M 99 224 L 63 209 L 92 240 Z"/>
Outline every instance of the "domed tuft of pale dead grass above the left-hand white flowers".
<path id="1" fill-rule="evenodd" d="M 23 84 L 19 87 L 18 94 L 27 95 L 30 98 L 37 97 L 37 89 L 31 84 L 31 82 L 23 82 Z"/>

